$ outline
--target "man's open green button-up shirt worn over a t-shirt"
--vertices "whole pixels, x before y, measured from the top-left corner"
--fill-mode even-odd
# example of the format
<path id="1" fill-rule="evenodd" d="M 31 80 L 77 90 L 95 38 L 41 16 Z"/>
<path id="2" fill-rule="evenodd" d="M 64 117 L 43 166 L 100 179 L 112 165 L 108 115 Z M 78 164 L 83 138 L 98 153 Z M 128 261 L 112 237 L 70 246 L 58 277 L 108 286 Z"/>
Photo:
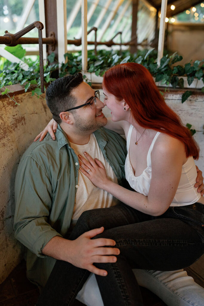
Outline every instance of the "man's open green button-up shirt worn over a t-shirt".
<path id="1" fill-rule="evenodd" d="M 94 134 L 122 185 L 125 140 L 105 128 Z M 55 136 L 55 141 L 47 134 L 42 142 L 31 144 L 20 160 L 15 181 L 15 237 L 28 248 L 27 276 L 39 287 L 45 285 L 56 262 L 42 249 L 51 238 L 64 237 L 69 230 L 78 183 L 79 160 L 59 125 Z"/>

